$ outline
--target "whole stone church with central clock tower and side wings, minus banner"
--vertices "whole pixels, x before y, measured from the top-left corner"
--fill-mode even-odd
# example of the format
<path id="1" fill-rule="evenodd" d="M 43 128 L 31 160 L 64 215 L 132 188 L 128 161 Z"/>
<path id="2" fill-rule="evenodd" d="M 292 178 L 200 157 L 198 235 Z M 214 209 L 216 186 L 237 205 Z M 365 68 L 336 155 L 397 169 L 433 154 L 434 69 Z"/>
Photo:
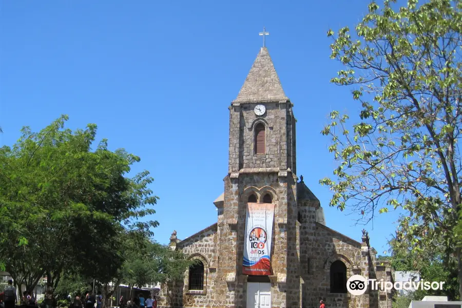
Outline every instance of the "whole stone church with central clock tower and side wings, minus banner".
<path id="1" fill-rule="evenodd" d="M 161 307 L 318 308 L 322 299 L 326 308 L 391 308 L 390 292 L 347 292 L 352 275 L 392 281 L 391 268 L 376 260 L 365 231 L 357 241 L 326 226 L 319 200 L 297 176 L 293 106 L 268 50 L 261 48 L 228 107 L 228 174 L 214 202 L 217 222 L 183 240 L 172 234 L 171 248 L 199 261 L 184 281 L 162 286 Z M 247 212 L 250 205 L 265 204 L 271 205 L 265 218 L 271 223 L 263 235 L 260 229 L 263 244 L 255 247 L 271 240 L 269 272 L 248 275 Z"/>

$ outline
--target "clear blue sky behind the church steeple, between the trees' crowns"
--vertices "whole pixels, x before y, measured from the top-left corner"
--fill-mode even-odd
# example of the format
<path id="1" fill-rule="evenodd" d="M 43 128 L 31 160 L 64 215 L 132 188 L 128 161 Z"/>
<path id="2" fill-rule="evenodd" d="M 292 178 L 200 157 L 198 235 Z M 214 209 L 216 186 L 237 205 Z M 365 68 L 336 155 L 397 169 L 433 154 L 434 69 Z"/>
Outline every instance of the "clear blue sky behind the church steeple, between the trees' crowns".
<path id="1" fill-rule="evenodd" d="M 22 1 L 0 3 L 0 146 L 22 126 L 60 114 L 68 127 L 98 125 L 111 149 L 141 157 L 160 197 L 156 240 L 183 239 L 216 222 L 213 201 L 227 174 L 228 106 L 262 45 L 297 122 L 298 176 L 324 207 L 327 225 L 360 241 L 355 216 L 329 207 L 318 184 L 335 167 L 320 134 L 331 110 L 357 113 L 350 90 L 331 85 L 329 28 L 354 25 L 368 1 Z M 397 213 L 369 230 L 380 253 Z"/>

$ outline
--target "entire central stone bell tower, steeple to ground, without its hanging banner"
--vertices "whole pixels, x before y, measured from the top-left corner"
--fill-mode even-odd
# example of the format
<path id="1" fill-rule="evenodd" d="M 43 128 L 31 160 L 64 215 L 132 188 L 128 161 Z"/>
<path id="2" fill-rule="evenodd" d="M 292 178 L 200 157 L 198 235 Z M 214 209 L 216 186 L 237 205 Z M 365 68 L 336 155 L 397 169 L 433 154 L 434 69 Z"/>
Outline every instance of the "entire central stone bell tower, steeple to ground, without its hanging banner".
<path id="1" fill-rule="evenodd" d="M 273 307 L 300 304 L 296 120 L 292 107 L 268 50 L 261 48 L 229 106 L 228 175 L 218 219 L 218 274 L 223 283 L 218 289 L 227 298 L 225 306 L 254 307 L 255 300 L 268 301 Z M 271 235 L 269 271 L 261 272 L 263 275 L 249 275 L 244 266 L 248 263 L 244 247 L 249 204 L 271 204 L 274 208 L 273 223 L 266 230 L 268 237 Z M 266 234 L 258 236 L 265 238 Z M 260 302 L 259 306 L 265 305 Z"/>

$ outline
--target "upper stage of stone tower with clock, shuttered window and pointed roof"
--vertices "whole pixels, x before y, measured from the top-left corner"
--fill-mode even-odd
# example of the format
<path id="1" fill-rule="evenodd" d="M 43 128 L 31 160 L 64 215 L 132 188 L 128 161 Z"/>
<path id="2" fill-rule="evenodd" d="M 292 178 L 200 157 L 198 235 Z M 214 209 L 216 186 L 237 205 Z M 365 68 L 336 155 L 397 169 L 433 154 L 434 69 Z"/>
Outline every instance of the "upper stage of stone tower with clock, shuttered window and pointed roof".
<path id="1" fill-rule="evenodd" d="M 229 173 L 278 169 L 295 174 L 295 118 L 266 48 L 229 107 Z"/>

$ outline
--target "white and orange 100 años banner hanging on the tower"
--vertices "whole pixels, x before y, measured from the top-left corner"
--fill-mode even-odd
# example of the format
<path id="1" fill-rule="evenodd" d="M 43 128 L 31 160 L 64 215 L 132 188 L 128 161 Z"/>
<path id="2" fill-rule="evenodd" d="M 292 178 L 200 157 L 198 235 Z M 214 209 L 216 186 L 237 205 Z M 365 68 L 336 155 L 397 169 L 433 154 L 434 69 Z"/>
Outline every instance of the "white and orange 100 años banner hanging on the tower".
<path id="1" fill-rule="evenodd" d="M 273 238 L 274 204 L 247 203 L 244 275 L 271 275 L 269 256 Z"/>

